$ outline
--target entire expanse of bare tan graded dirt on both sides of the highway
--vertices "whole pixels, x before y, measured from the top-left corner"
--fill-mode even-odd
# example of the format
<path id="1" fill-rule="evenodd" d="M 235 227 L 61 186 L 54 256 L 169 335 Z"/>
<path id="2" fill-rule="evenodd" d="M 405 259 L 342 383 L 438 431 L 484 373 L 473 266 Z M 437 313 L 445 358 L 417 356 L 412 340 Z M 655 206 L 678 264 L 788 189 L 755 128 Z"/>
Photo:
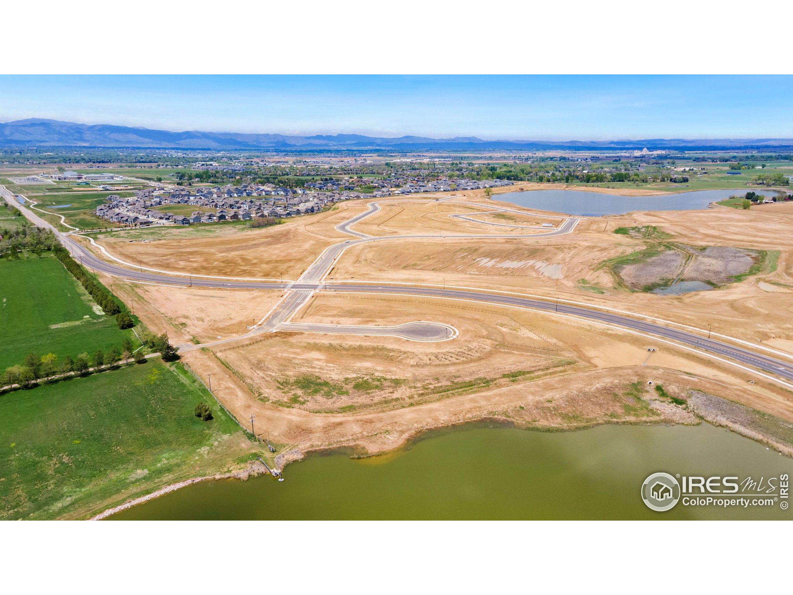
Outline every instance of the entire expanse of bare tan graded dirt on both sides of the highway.
<path id="1" fill-rule="evenodd" d="M 481 192 L 455 194 L 490 204 Z M 137 255 L 163 269 L 296 278 L 316 251 L 347 237 L 334 226 L 364 209 L 366 202 L 341 203 L 335 210 L 276 228 L 205 235 L 178 230 L 183 234 L 178 236 L 130 232 L 102 241 L 116 255 L 133 262 Z M 377 236 L 493 232 L 496 226 L 449 216 L 479 210 L 434 199 L 385 204 L 356 229 Z M 519 225 L 542 220 L 531 215 L 477 216 L 482 217 Z M 745 281 L 684 296 L 632 294 L 601 264 L 654 241 L 614 232 L 642 225 L 656 226 L 671 236 L 669 241 L 696 253 L 688 262 L 686 278 L 741 274 L 746 259 L 751 260 L 749 251 L 758 250 L 779 251 L 776 269 L 769 266 Z M 573 234 L 546 239 L 527 234 L 525 239 L 439 238 L 354 246 L 339 259 L 331 279 L 436 283 L 558 297 L 696 328 L 710 326 L 713 332 L 793 353 L 791 231 L 793 211 L 788 213 L 787 205 L 633 213 L 584 219 Z M 152 241 L 129 241 L 145 239 Z M 669 266 L 678 270 L 680 262 Z M 115 285 L 118 290 L 123 284 Z M 121 291 L 150 328 L 202 343 L 242 334 L 281 297 L 278 292 L 156 286 L 126 286 Z M 277 332 L 215 352 L 190 351 L 184 359 L 204 378 L 213 374 L 217 396 L 236 417 L 255 414 L 257 425 L 273 440 L 303 450 L 355 445 L 379 452 L 424 429 L 483 417 L 554 428 L 691 421 L 689 414 L 668 403 L 652 402 L 648 409 L 645 397 L 636 401 L 636 383 L 646 386 L 649 380 L 662 381 L 670 394 L 701 390 L 793 420 L 793 396 L 770 382 L 678 347 L 581 321 L 431 298 L 321 293 L 294 318 L 324 324 L 417 320 L 453 325 L 460 336 L 422 344 L 389 337 Z M 648 352 L 648 347 L 657 351 Z"/>

